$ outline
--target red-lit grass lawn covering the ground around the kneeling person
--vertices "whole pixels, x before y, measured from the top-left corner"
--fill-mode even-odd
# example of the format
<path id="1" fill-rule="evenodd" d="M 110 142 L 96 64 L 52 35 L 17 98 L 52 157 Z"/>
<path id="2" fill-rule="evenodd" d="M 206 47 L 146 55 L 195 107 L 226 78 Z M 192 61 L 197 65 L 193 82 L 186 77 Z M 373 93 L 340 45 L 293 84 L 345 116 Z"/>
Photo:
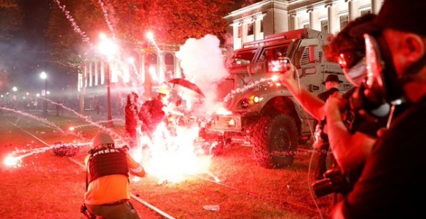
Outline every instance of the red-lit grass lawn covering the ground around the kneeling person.
<path id="1" fill-rule="evenodd" d="M 100 129 L 84 124 L 88 123 L 74 116 L 33 120 L 15 113 L 0 114 L 0 218 L 84 218 L 79 207 L 85 170 L 51 149 L 43 150 L 59 141 L 88 143 Z M 81 125 L 79 137 L 67 131 L 71 125 Z M 116 122 L 114 131 L 123 135 L 122 122 Z M 19 168 L 3 165 L 9 153 L 22 149 L 40 152 L 22 158 Z M 89 146 L 79 147 L 73 159 L 83 163 L 88 151 Z M 310 167 L 311 161 L 312 154 L 300 152 L 291 167 L 268 170 L 257 165 L 250 147 L 231 145 L 225 154 L 211 158 L 211 175 L 186 175 L 183 181 L 165 184 L 146 175 L 130 186 L 133 195 L 172 218 L 326 218 L 330 197 L 314 197 L 310 184 L 315 162 Z M 132 203 L 142 218 L 165 218 L 137 200 Z M 219 209 L 207 211 L 206 205 Z"/>

